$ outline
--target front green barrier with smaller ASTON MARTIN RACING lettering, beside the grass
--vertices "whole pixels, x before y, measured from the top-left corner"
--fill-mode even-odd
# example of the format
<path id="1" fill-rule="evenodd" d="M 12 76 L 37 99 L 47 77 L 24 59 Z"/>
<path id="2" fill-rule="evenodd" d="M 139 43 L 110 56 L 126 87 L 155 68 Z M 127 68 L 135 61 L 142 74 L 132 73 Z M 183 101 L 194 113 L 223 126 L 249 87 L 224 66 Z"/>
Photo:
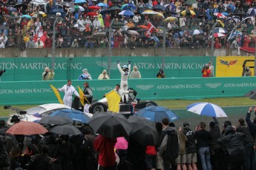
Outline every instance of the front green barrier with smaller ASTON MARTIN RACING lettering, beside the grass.
<path id="1" fill-rule="evenodd" d="M 82 87 L 83 82 L 73 81 L 73 86 Z M 93 97 L 97 99 L 114 89 L 119 82 L 117 79 L 89 81 Z M 0 104 L 57 102 L 49 83 L 60 88 L 66 81 L 0 82 Z M 256 89 L 256 78 L 145 78 L 129 80 L 128 86 L 137 90 L 137 98 L 142 100 L 220 98 L 242 96 Z"/>

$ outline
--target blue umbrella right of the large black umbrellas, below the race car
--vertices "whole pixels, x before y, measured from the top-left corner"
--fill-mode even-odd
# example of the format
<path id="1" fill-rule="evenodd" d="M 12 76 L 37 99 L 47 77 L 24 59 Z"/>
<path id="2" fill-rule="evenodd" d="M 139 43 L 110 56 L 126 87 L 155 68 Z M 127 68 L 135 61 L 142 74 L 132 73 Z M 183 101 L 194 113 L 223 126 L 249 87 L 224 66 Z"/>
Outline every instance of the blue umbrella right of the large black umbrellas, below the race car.
<path id="1" fill-rule="evenodd" d="M 179 118 L 170 109 L 163 106 L 148 106 L 140 109 L 134 116 L 144 117 L 150 121 L 161 122 L 163 118 L 168 118 L 170 121 L 178 120 Z"/>

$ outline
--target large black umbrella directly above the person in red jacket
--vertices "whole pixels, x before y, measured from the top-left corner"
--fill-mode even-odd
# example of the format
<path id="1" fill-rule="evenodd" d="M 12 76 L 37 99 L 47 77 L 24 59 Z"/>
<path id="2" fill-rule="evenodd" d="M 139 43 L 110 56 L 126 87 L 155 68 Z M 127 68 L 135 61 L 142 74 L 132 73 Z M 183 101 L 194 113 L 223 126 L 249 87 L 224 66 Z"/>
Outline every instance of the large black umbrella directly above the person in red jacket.
<path id="1" fill-rule="evenodd" d="M 130 123 L 121 114 L 101 112 L 93 115 L 89 125 L 97 134 L 109 138 L 127 137 L 131 132 Z"/>

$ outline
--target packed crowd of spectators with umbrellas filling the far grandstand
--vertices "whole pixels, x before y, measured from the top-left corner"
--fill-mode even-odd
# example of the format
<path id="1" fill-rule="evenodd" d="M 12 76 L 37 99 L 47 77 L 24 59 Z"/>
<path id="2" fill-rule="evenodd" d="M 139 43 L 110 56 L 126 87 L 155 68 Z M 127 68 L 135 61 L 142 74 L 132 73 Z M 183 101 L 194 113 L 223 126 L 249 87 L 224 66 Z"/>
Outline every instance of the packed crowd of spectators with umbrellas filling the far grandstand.
<path id="1" fill-rule="evenodd" d="M 209 48 L 211 27 L 216 18 L 225 24 L 226 30 L 224 36 L 214 38 L 215 49 L 255 46 L 255 12 L 248 12 L 251 7 L 255 7 L 255 1 L 199 0 L 197 3 L 191 0 L 89 0 L 79 4 L 73 2 L 45 0 L 44 4 L 35 4 L 29 0 L 1 1 L 0 48 L 52 47 L 56 12 L 62 15 L 56 24 L 56 47 L 108 47 L 108 42 L 111 41 L 114 48 L 163 47 L 164 43 L 165 47 L 170 48 Z M 103 2 L 104 6 L 96 6 Z M 123 4 L 128 5 L 122 8 Z M 134 15 L 119 15 L 122 11 L 120 7 L 131 10 Z M 155 10 L 164 17 L 144 15 L 142 12 L 145 10 Z M 185 12 L 181 13 L 184 10 Z M 42 11 L 47 16 L 31 15 L 36 11 Z M 214 13 L 222 13 L 223 16 L 214 18 Z M 176 18 L 164 19 L 170 16 Z M 248 16 L 252 17 L 243 21 L 243 18 Z M 108 34 L 112 20 L 113 36 L 110 39 Z M 232 31 L 236 25 L 239 26 Z M 221 27 L 221 24 L 217 24 L 217 27 Z M 194 30 L 203 32 L 195 33 Z M 164 35 L 165 31 L 168 33 Z"/>

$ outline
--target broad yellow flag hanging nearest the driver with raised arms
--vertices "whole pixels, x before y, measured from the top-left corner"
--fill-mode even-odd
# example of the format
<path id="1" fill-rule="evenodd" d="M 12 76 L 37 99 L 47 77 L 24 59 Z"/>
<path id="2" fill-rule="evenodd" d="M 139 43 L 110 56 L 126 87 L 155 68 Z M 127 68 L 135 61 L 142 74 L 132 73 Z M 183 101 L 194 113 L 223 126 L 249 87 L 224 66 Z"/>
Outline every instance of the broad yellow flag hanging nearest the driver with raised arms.
<path id="1" fill-rule="evenodd" d="M 121 100 L 121 97 L 112 90 L 111 92 L 108 92 L 108 94 L 105 95 L 108 101 L 108 110 L 112 112 L 119 112 L 119 103 Z"/>

